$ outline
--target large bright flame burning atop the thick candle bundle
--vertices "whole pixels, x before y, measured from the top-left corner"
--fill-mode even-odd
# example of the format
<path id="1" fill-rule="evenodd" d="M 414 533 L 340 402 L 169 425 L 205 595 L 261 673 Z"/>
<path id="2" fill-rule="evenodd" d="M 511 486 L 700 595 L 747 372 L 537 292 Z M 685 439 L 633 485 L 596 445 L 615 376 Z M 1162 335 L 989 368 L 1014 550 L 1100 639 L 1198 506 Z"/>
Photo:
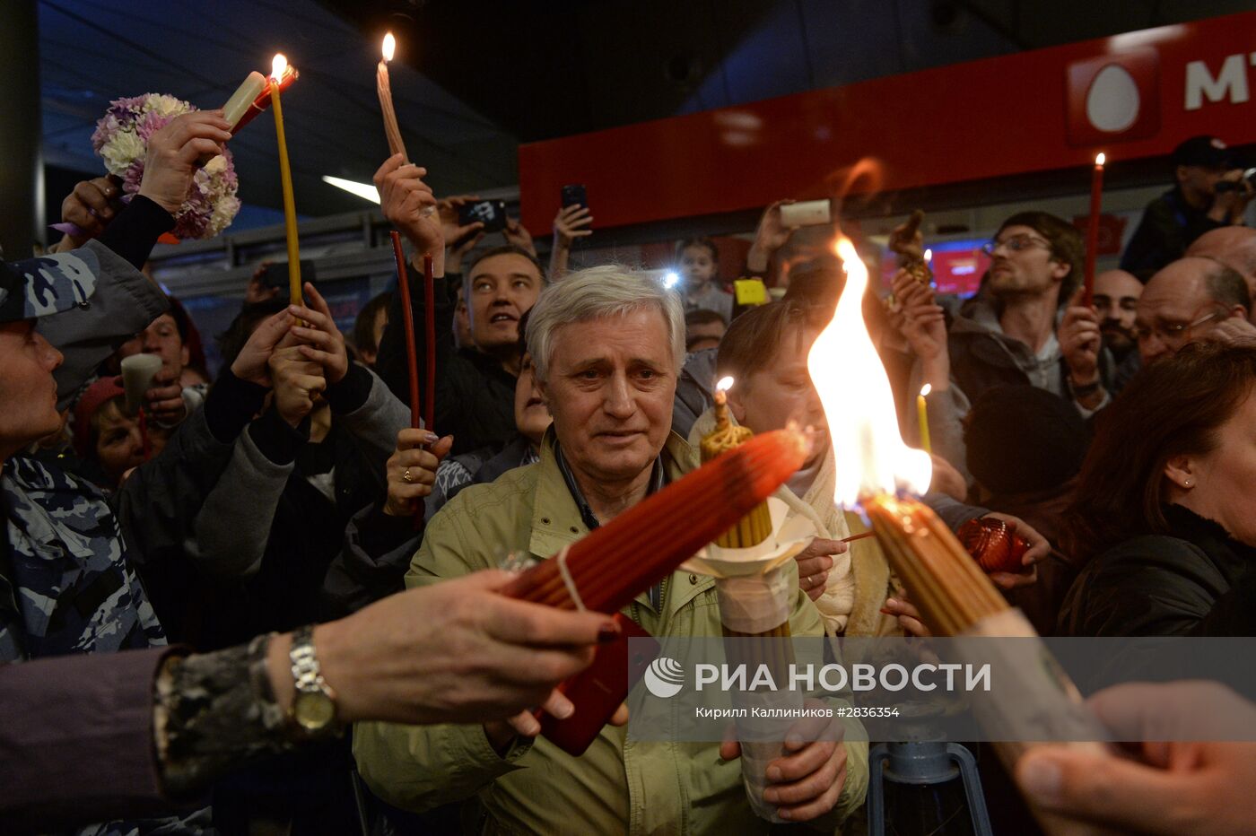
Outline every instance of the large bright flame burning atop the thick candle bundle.
<path id="1" fill-rule="evenodd" d="M 850 238 L 838 240 L 847 286 L 833 320 L 811 346 L 806 365 L 824 404 L 836 458 L 834 501 L 854 507 L 860 496 L 928 490 L 928 453 L 903 443 L 889 377 L 863 319 L 868 267 Z"/>

